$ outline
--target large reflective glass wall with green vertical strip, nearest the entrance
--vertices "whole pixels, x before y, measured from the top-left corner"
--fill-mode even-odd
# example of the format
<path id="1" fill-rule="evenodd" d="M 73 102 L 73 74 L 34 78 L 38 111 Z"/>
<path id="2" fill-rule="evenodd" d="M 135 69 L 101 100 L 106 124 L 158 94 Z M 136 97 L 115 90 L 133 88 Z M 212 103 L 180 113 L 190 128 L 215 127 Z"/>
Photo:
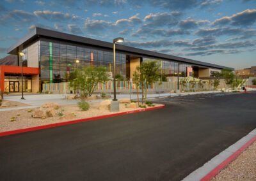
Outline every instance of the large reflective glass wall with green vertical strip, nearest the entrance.
<path id="1" fill-rule="evenodd" d="M 79 63 L 76 63 L 76 59 Z M 65 75 L 84 66 L 105 66 L 113 71 L 113 52 L 80 45 L 40 41 L 42 82 L 65 82 Z M 116 74 L 126 76 L 126 55 L 116 53 Z"/>

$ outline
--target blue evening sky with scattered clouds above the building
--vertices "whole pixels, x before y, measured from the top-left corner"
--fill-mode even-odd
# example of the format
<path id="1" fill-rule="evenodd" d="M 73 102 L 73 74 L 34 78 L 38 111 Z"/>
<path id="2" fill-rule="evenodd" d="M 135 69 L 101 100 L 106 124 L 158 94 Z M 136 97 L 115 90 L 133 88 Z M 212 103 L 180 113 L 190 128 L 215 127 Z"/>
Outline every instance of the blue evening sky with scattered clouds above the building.
<path id="1" fill-rule="evenodd" d="M 0 58 L 35 27 L 220 64 L 256 66 L 256 0 L 0 2 Z"/>

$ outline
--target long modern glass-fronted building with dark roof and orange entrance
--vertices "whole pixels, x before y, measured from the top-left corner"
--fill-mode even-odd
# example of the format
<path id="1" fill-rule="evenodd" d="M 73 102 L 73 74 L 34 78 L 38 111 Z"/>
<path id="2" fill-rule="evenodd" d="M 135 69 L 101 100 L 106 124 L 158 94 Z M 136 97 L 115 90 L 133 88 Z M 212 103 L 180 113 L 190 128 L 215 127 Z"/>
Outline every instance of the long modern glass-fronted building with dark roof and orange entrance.
<path id="1" fill-rule="evenodd" d="M 22 57 L 19 55 L 20 52 L 24 54 Z M 16 55 L 17 63 L 14 66 L 0 66 L 0 87 L 3 92 L 21 91 L 22 62 L 23 89 L 26 92 L 40 91 L 44 82 L 65 82 L 66 75 L 77 67 L 106 66 L 109 72 L 113 71 L 113 43 L 39 27 L 9 48 L 8 54 Z M 79 63 L 76 62 L 77 59 Z M 207 77 L 220 72 L 221 69 L 232 69 L 116 45 L 116 74 L 132 78 L 136 66 L 140 66 L 143 61 L 152 60 L 160 61 L 161 74 L 168 77 L 178 75 Z"/>

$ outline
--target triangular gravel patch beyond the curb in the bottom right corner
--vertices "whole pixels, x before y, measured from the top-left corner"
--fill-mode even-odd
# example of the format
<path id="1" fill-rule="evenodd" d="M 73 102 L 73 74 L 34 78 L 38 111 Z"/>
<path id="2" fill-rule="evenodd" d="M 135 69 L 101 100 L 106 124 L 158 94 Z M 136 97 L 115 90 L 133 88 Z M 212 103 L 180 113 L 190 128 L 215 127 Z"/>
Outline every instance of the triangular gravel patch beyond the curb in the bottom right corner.
<path id="1" fill-rule="evenodd" d="M 256 180 L 256 141 L 211 181 Z"/>

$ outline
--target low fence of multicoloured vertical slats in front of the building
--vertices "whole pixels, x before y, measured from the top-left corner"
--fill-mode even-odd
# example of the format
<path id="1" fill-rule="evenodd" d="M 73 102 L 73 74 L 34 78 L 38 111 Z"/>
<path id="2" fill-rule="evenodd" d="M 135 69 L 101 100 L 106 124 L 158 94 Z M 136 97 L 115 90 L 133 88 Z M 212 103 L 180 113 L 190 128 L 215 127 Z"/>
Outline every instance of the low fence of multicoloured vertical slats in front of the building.
<path id="1" fill-rule="evenodd" d="M 148 85 L 148 93 L 156 94 L 156 92 L 171 92 L 177 89 L 177 82 L 155 82 Z M 114 87 L 113 81 L 108 81 L 104 83 L 97 83 L 95 86 L 95 92 L 112 92 Z M 214 87 L 210 85 L 209 82 L 195 82 L 195 83 L 180 83 L 180 91 L 212 91 Z M 42 92 L 53 92 L 54 94 L 69 94 L 74 92 L 72 88 L 69 87 L 68 82 L 60 83 L 43 83 Z M 136 85 L 131 81 L 117 81 L 116 82 L 116 92 L 127 93 L 136 92 Z"/>

